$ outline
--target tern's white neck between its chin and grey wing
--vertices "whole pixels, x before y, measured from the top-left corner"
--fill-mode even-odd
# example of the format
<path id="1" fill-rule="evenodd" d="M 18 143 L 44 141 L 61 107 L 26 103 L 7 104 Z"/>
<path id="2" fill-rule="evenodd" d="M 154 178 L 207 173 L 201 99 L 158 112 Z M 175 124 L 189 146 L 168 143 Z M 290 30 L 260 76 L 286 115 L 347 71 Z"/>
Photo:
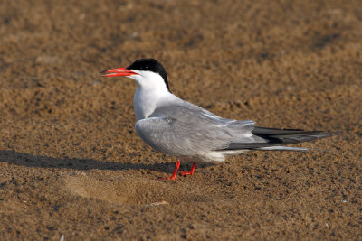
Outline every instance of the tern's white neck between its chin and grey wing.
<path id="1" fill-rule="evenodd" d="M 133 107 L 137 120 L 148 118 L 163 101 L 173 99 L 167 88 L 143 88 L 138 86 L 133 97 Z"/>

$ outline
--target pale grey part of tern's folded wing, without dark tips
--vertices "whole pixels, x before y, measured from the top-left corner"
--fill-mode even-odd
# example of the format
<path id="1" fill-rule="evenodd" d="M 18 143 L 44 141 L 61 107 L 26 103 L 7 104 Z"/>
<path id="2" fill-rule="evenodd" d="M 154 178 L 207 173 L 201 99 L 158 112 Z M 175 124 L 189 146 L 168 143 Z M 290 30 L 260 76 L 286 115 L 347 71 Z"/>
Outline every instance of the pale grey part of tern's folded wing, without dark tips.
<path id="1" fill-rule="evenodd" d="M 158 107 L 147 119 L 137 122 L 136 131 L 159 152 L 188 156 L 227 149 L 234 142 L 255 142 L 253 125 L 250 120 L 224 119 L 184 104 Z"/>

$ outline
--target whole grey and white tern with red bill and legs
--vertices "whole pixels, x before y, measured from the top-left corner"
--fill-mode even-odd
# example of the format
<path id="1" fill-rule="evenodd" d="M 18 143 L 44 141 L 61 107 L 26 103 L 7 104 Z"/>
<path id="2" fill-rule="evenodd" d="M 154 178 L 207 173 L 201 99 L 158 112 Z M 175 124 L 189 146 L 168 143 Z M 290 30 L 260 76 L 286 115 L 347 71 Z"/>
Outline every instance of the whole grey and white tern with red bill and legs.
<path id="1" fill-rule="evenodd" d="M 160 153 L 176 157 L 173 174 L 161 180 L 176 180 L 180 162 L 223 162 L 227 156 L 249 151 L 308 151 L 285 146 L 339 134 L 256 126 L 252 120 L 216 116 L 171 93 L 165 68 L 155 59 L 140 59 L 127 68 L 104 70 L 102 77 L 128 77 L 137 85 L 133 97 L 138 136 Z"/>

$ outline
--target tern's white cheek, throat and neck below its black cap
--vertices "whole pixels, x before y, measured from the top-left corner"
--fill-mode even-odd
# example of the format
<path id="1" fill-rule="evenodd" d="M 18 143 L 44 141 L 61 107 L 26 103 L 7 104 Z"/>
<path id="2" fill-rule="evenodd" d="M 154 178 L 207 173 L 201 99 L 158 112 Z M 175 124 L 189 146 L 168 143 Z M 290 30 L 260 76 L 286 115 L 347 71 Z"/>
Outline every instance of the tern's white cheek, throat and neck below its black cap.
<path id="1" fill-rule="evenodd" d="M 151 71 L 132 70 L 138 75 L 130 76 L 135 79 L 137 88 L 133 97 L 133 107 L 137 121 L 148 118 L 154 110 L 175 98 L 166 86 L 164 79 L 157 73 Z"/>

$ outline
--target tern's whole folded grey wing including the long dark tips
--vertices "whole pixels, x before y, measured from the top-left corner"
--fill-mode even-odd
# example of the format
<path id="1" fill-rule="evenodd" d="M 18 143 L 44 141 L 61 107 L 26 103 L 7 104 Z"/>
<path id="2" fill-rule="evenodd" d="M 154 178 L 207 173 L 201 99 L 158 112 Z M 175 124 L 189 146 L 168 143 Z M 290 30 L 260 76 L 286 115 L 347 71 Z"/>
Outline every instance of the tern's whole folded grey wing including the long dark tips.
<path id="1" fill-rule="evenodd" d="M 188 102 L 158 107 L 147 119 L 137 122 L 136 131 L 157 151 L 176 156 L 215 151 L 305 151 L 306 148 L 281 145 L 338 134 L 255 127 L 252 120 L 224 119 Z"/>

